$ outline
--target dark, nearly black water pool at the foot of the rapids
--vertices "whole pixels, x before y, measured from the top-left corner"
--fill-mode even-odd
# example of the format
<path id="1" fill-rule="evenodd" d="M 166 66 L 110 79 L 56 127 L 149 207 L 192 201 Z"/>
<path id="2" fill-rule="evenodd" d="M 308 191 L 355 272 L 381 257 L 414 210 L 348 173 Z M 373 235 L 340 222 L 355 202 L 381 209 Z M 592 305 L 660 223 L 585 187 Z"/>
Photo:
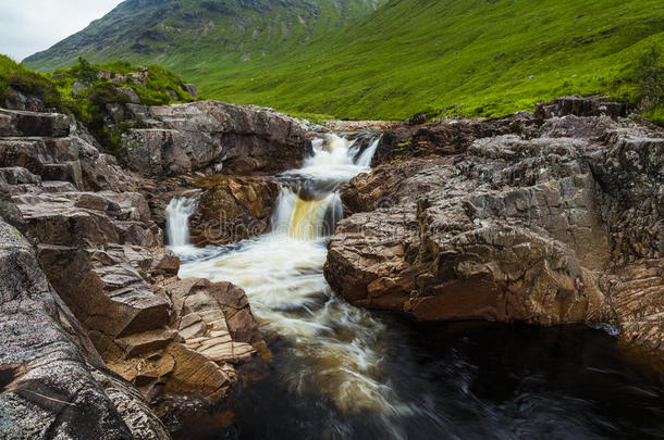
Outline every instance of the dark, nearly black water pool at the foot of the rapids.
<path id="1" fill-rule="evenodd" d="M 243 391 L 234 428 L 206 438 L 664 438 L 662 357 L 601 330 L 384 319 L 384 380 L 403 414 L 342 414 L 321 395 L 284 389 L 279 372 L 297 361 L 275 341 L 272 374 Z"/>

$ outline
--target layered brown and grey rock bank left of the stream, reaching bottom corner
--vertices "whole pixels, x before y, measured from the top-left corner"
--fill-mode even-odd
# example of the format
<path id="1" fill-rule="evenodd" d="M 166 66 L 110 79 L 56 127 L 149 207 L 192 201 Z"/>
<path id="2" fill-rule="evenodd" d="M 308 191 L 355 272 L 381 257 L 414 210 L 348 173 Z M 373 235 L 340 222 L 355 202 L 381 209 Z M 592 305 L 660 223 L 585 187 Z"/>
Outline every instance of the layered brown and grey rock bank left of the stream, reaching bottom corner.
<path id="1" fill-rule="evenodd" d="M 137 191 L 159 186 L 69 117 L 2 110 L 0 127 L 0 216 L 27 237 L 2 223 L 0 437 L 168 438 L 145 398 L 222 399 L 268 355 L 244 291 L 180 280 Z"/>

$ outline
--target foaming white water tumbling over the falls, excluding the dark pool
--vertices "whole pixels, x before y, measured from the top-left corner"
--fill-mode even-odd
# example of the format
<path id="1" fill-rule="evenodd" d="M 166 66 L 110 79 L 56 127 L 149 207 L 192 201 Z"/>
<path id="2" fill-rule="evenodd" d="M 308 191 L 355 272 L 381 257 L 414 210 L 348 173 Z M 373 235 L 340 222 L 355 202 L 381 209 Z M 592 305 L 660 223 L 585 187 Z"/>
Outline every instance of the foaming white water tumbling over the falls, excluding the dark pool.
<path id="1" fill-rule="evenodd" d="M 313 155 L 300 169 L 284 175 L 328 185 L 347 181 L 370 171 L 378 140 L 360 152 L 354 141 L 329 135 L 313 142 Z M 405 408 L 383 382 L 384 326 L 340 300 L 322 273 L 327 235 L 342 216 L 340 194 L 318 190 L 307 199 L 282 186 L 270 234 L 200 250 L 197 260 L 182 264 L 180 277 L 231 281 L 245 289 L 263 331 L 286 339 L 297 360 L 295 370 L 280 372 L 290 390 L 321 392 L 342 412 L 371 410 L 394 416 Z M 190 260 L 196 251 L 187 249 L 182 236 L 188 234 L 194 203 L 186 200 L 173 200 L 169 206 L 169 237 L 179 240 L 171 249 Z"/>

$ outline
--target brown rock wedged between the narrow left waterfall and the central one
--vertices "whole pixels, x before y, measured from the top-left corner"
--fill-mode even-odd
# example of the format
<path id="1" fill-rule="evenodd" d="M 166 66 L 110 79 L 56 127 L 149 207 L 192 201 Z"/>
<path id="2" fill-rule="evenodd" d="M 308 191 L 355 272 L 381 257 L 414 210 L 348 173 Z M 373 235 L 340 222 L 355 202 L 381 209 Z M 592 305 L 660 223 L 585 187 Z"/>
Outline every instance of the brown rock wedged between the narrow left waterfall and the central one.
<path id="1" fill-rule="evenodd" d="M 198 185 L 206 190 L 189 217 L 194 244 L 228 244 L 270 230 L 270 216 L 279 196 L 273 180 L 213 176 Z"/>

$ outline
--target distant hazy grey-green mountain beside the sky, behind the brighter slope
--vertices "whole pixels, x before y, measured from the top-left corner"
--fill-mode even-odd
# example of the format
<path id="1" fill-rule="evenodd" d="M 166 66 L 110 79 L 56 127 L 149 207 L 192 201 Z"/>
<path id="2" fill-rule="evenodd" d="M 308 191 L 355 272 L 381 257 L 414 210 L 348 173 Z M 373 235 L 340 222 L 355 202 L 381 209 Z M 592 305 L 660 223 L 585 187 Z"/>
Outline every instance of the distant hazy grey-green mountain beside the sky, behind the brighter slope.
<path id="1" fill-rule="evenodd" d="M 40 71 L 123 59 L 199 70 L 295 50 L 381 0 L 127 0 L 25 62 Z"/>

